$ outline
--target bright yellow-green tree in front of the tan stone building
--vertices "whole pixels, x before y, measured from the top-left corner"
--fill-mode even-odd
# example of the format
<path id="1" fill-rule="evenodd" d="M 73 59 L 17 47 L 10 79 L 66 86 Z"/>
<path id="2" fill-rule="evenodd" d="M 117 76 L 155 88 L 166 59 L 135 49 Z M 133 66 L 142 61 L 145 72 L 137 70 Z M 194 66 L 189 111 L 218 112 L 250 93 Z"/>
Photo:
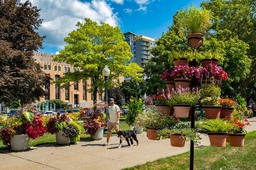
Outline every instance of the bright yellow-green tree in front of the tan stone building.
<path id="1" fill-rule="evenodd" d="M 104 88 L 104 77 L 102 70 L 108 65 L 111 73 L 108 79 L 108 87 L 117 85 L 112 80 L 119 79 L 119 76 L 130 76 L 134 80 L 143 81 L 140 78 L 143 69 L 136 63 L 126 66 L 132 53 L 129 52 L 129 45 L 124 41 L 125 37 L 119 27 L 112 27 L 107 23 L 91 21 L 85 18 L 85 23 L 78 22 L 77 30 L 69 33 L 64 40 L 69 44 L 54 57 L 54 61 L 66 62 L 73 67 L 80 67 L 80 71 L 67 72 L 57 83 L 70 81 L 86 81 L 91 79 L 94 99 L 97 98 L 97 92 Z M 65 87 L 65 84 L 62 85 Z"/>

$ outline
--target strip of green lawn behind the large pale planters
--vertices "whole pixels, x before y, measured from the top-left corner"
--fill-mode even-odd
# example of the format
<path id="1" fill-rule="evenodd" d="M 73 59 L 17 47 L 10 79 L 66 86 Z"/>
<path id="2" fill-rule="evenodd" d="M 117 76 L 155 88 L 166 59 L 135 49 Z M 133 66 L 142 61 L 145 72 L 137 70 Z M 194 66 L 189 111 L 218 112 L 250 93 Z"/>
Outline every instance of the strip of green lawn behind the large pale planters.
<path id="1" fill-rule="evenodd" d="M 83 128 L 83 122 L 80 122 L 81 123 L 81 139 L 87 139 L 87 138 L 90 138 L 90 135 L 86 135 L 85 134 L 85 130 Z M 120 129 L 122 131 L 129 131 L 131 130 L 131 126 L 129 126 L 128 124 L 126 123 L 120 123 Z M 116 132 L 115 130 L 113 129 L 113 131 L 111 132 L 111 135 L 115 135 Z M 106 136 L 106 134 L 103 134 L 103 136 Z M 29 146 L 37 146 L 37 145 L 43 145 L 43 144 L 48 144 L 48 143 L 56 143 L 56 137 L 55 137 L 55 134 L 48 134 L 48 133 L 45 133 L 44 136 L 42 137 L 39 137 L 39 138 L 36 138 L 36 139 L 29 139 Z M 6 150 L 7 147 L 3 145 L 3 141 L 0 140 L 0 151 L 2 150 Z"/>

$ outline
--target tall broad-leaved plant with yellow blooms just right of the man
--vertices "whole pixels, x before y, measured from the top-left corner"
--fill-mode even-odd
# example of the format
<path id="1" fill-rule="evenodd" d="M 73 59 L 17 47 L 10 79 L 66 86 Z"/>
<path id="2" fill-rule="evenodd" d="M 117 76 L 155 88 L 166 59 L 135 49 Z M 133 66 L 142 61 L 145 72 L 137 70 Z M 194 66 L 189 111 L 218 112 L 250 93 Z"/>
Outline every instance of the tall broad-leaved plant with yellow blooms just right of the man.
<path id="1" fill-rule="evenodd" d="M 136 117 L 145 110 L 145 106 L 142 99 L 137 100 L 133 97 L 127 103 L 129 114 L 126 116 L 125 121 L 128 125 L 131 125 L 131 123 L 134 123 Z"/>

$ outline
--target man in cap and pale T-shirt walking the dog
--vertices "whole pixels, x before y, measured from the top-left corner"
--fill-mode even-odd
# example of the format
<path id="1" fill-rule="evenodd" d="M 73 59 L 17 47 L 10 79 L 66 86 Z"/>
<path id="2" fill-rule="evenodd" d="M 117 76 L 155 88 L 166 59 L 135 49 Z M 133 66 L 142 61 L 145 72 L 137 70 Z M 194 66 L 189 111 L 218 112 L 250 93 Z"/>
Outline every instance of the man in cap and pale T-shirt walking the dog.
<path id="1" fill-rule="evenodd" d="M 107 141 L 103 144 L 103 146 L 109 145 L 109 138 L 111 130 L 114 128 L 117 132 L 119 130 L 119 118 L 120 118 L 120 109 L 119 106 L 114 104 L 114 99 L 109 99 L 110 106 L 109 106 L 109 121 L 107 124 L 108 133 L 107 133 Z"/>

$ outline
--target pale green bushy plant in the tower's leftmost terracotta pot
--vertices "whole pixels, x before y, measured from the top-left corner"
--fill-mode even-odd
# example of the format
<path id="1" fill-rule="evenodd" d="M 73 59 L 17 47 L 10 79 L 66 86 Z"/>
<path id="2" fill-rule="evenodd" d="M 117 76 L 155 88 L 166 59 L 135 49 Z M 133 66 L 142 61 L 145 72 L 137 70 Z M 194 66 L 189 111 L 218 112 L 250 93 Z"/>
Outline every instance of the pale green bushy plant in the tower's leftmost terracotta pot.
<path id="1" fill-rule="evenodd" d="M 170 116 L 162 116 L 159 112 L 154 109 L 139 114 L 136 119 L 136 123 L 140 123 L 149 129 L 164 129 L 173 126 L 179 119 Z"/>

